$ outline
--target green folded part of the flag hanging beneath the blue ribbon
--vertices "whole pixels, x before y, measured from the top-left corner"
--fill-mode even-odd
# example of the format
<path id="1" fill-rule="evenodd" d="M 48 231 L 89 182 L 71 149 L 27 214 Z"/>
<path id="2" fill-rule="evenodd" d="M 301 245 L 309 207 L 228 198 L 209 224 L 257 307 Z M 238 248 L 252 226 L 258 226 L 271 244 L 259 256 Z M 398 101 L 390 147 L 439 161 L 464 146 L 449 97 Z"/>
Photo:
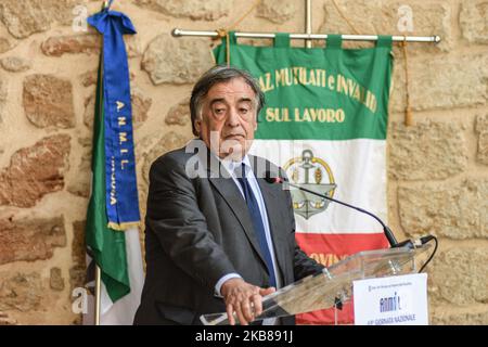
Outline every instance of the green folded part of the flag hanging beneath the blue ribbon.
<path id="1" fill-rule="evenodd" d="M 105 208 L 105 145 L 102 70 L 99 66 L 95 115 L 93 121 L 92 194 L 88 205 L 85 240 L 102 270 L 102 281 L 115 303 L 130 292 L 126 255 L 126 235 L 107 227 Z"/>

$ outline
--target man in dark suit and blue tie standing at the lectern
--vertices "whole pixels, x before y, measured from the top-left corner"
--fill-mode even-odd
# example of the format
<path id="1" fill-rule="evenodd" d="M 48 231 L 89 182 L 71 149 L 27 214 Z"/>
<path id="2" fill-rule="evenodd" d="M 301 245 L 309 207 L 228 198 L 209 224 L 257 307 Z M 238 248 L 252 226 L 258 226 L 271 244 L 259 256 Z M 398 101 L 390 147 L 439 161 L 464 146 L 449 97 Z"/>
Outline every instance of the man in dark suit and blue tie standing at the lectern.
<path id="1" fill-rule="evenodd" d="M 264 296 L 323 269 L 296 245 L 290 192 L 264 179 L 284 174 L 247 154 L 262 105 L 244 70 L 216 66 L 196 82 L 190 108 L 198 140 L 151 167 L 136 324 L 198 324 L 201 314 L 223 311 L 231 324 L 233 314 L 247 324 Z"/>

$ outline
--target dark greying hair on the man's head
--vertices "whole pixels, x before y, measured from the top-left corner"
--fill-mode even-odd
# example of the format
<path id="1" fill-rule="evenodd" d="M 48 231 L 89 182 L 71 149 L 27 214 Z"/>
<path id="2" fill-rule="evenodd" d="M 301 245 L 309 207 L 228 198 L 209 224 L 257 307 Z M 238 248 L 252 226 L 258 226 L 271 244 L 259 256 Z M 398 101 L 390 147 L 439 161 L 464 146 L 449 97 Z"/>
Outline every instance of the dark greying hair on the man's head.
<path id="1" fill-rule="evenodd" d="M 195 129 L 195 120 L 201 116 L 203 101 L 210 88 L 217 83 L 227 82 L 234 78 L 244 79 L 244 81 L 253 89 L 256 94 L 256 116 L 259 114 L 259 111 L 261 111 L 265 105 L 265 94 L 257 80 L 244 69 L 227 65 L 217 65 L 203 74 L 193 87 L 192 97 L 190 98 L 190 116 L 194 136 L 198 136 L 198 132 Z"/>

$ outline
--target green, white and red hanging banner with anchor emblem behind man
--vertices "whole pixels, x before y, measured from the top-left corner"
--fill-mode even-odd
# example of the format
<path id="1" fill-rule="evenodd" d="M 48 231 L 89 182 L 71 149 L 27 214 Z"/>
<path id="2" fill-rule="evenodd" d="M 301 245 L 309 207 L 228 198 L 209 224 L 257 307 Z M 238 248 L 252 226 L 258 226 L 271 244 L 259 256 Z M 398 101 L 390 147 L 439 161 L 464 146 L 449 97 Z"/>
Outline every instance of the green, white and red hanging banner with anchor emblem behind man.
<path id="1" fill-rule="evenodd" d="M 216 61 L 249 70 L 265 92 L 252 153 L 283 167 L 293 183 L 387 218 L 386 129 L 393 66 L 391 38 L 376 47 L 342 49 L 330 35 L 325 49 L 291 48 L 277 34 L 273 47 L 237 44 L 230 34 Z M 292 190 L 296 240 L 324 266 L 360 250 L 387 247 L 371 217 Z M 352 322 L 352 305 L 338 312 Z M 297 317 L 299 324 L 334 323 L 332 309 Z"/>

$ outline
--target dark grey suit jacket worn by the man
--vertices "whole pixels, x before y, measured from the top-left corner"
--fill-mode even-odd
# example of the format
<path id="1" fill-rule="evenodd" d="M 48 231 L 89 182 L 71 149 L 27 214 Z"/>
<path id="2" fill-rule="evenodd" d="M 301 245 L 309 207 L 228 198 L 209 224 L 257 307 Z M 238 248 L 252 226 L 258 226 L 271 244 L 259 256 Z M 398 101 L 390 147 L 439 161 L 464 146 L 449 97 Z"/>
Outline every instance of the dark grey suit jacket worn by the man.
<path id="1" fill-rule="evenodd" d="M 200 176 L 206 177 L 187 175 L 187 164 L 192 166 L 195 155 L 184 149 L 160 156 L 151 167 L 146 278 L 134 324 L 200 324 L 201 314 L 224 312 L 215 285 L 230 272 L 269 286 L 246 203 L 231 178 L 217 177 L 218 165 L 208 165 L 208 157 L 201 146 L 197 165 Z M 320 271 L 323 267 L 296 245 L 290 192 L 259 178 L 264 170 L 279 168 L 264 158 L 249 155 L 249 159 L 268 211 L 283 286 Z M 293 324 L 294 318 L 282 322 Z"/>

